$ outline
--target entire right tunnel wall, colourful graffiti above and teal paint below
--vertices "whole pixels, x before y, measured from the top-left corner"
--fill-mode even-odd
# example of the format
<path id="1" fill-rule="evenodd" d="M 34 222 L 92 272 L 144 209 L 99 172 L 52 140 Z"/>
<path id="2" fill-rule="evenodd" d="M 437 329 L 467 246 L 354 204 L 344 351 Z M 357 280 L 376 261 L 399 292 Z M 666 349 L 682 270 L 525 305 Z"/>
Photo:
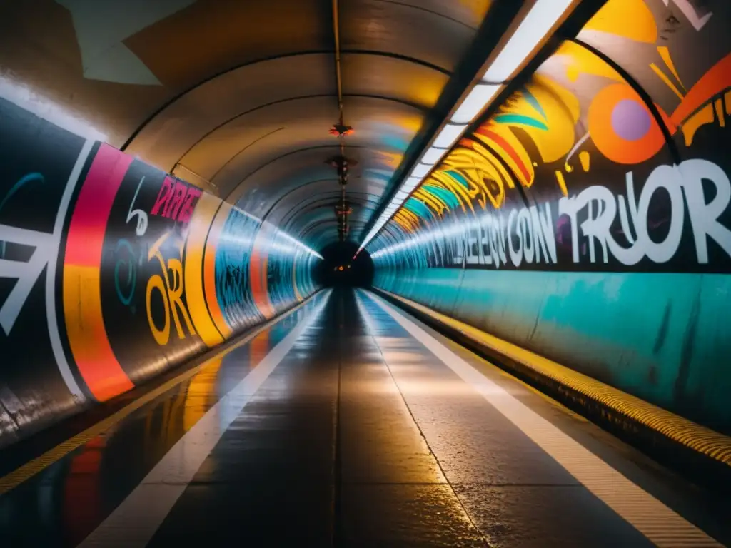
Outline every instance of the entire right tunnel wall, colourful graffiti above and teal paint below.
<path id="1" fill-rule="evenodd" d="M 368 251 L 376 286 L 731 433 L 731 4 L 699 4 L 610 0 Z"/>

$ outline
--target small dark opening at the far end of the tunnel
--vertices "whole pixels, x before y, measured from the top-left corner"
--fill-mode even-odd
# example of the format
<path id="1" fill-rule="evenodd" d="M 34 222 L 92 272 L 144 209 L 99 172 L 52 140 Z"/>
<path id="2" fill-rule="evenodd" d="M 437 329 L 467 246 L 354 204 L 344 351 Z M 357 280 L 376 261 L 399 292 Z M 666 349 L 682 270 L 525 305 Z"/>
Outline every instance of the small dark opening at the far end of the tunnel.
<path id="1" fill-rule="evenodd" d="M 352 241 L 331 243 L 320 251 L 322 261 L 313 273 L 316 283 L 325 287 L 370 287 L 374 280 L 374 264 L 365 249 L 358 251 Z M 354 259 L 355 257 L 355 259 Z"/>

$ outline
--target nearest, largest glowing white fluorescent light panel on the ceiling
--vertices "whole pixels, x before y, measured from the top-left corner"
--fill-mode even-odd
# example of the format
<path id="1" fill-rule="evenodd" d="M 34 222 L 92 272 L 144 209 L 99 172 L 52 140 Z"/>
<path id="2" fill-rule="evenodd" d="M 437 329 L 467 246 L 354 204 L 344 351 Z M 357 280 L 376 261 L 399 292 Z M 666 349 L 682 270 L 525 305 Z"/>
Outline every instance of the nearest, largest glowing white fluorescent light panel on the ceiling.
<path id="1" fill-rule="evenodd" d="M 573 3 L 574 0 L 536 0 L 505 47 L 482 75 L 482 80 L 510 80 Z"/>

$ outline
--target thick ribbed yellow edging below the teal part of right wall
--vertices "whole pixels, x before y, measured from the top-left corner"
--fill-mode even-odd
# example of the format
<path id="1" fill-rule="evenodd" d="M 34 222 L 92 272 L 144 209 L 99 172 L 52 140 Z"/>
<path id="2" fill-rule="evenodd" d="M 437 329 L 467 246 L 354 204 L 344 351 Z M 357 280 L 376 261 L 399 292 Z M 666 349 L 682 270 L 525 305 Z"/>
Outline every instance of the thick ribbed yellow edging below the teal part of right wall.
<path id="1" fill-rule="evenodd" d="M 610 387 L 607 384 L 597 381 L 595 378 L 578 373 L 548 358 L 508 343 L 506 340 L 499 339 L 494 335 L 489 335 L 462 321 L 435 312 L 431 308 L 427 308 L 417 302 L 399 297 L 383 289 L 379 289 L 379 292 L 388 294 L 390 297 L 416 308 L 425 315 L 431 316 L 442 324 L 461 332 L 462 335 L 482 346 L 486 346 L 498 351 L 504 356 L 514 359 L 516 362 L 525 365 L 542 376 L 552 378 L 554 381 L 564 384 L 592 400 L 599 401 L 599 403 L 613 409 L 618 414 L 627 416 L 629 419 L 639 422 L 641 425 L 662 433 L 678 444 L 705 454 L 705 456 L 717 460 L 719 463 L 731 466 L 731 438 L 727 435 L 698 425 L 689 419 L 654 406 L 645 400 L 641 400 L 639 397 Z"/>

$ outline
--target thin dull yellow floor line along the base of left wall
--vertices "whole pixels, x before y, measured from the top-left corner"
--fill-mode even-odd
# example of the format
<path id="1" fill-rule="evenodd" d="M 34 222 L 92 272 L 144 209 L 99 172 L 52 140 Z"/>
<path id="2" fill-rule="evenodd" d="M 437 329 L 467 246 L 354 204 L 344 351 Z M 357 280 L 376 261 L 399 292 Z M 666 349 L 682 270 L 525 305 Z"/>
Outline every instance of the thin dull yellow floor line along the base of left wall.
<path id="1" fill-rule="evenodd" d="M 122 419 L 125 419 L 127 416 L 137 411 L 137 409 L 145 406 L 147 403 L 150 403 L 156 397 L 163 395 L 170 389 L 175 388 L 178 384 L 181 384 L 182 382 L 187 381 L 189 378 L 197 375 L 197 373 L 205 368 L 205 366 L 208 365 L 208 363 L 210 363 L 211 361 L 215 359 L 221 359 L 227 354 L 230 354 L 230 352 L 234 351 L 235 349 L 238 349 L 246 343 L 249 343 L 249 341 L 259 335 L 260 332 L 267 330 L 270 327 L 273 327 L 273 325 L 279 323 L 279 321 L 282 321 L 283 319 L 287 318 L 287 316 L 291 316 L 293 313 L 298 311 L 300 308 L 306 305 L 306 303 L 309 302 L 316 294 L 317 293 L 310 295 L 310 297 L 308 297 L 306 300 L 300 302 L 300 304 L 285 312 L 278 318 L 271 319 L 260 325 L 260 327 L 257 327 L 254 331 L 249 333 L 249 335 L 246 335 L 244 338 L 239 340 L 238 343 L 232 344 L 232 346 L 230 346 L 229 348 L 220 351 L 215 356 L 206 359 L 204 362 L 196 365 L 194 368 L 191 368 L 186 372 L 181 373 L 177 377 L 170 379 L 170 381 L 161 384 L 156 389 L 153 389 L 150 392 L 147 392 L 146 394 L 140 396 L 137 400 L 129 403 L 129 405 L 121 408 L 119 411 L 116 411 L 110 416 L 107 416 L 106 419 L 102 419 L 101 421 L 97 422 L 96 425 L 91 426 L 86 430 L 83 430 L 83 432 L 80 432 L 72 438 L 69 438 L 67 441 L 58 444 L 56 447 L 53 447 L 53 449 L 49 449 L 47 452 L 43 453 L 39 457 L 36 457 L 33 460 L 29 460 L 29 462 L 27 462 L 26 464 L 21 465 L 19 468 L 15 468 L 14 471 L 8 473 L 5 476 L 2 476 L 0 478 L 0 495 L 4 495 L 4 493 L 15 489 L 15 487 L 18 487 L 18 485 L 20 485 L 21 483 L 26 482 L 37 473 L 45 470 L 45 468 L 48 468 L 53 463 L 56 463 L 58 460 L 61 460 L 67 454 L 74 451 L 83 444 L 86 444 L 92 438 L 96 438 L 97 435 L 105 433 Z"/>

